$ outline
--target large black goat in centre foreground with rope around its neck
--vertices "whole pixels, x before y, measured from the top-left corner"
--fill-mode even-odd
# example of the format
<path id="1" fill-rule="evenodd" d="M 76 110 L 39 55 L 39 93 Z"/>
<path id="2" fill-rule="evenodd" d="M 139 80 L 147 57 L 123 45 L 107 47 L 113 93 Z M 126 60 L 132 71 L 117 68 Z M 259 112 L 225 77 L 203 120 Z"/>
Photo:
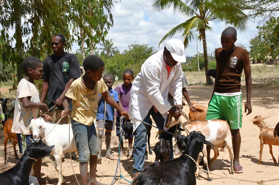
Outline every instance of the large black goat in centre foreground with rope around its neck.
<path id="1" fill-rule="evenodd" d="M 173 185 L 173 184 L 196 184 L 196 164 L 185 154 L 191 156 L 197 161 L 198 153 L 203 149 L 203 144 L 212 145 L 201 132 L 192 131 L 189 136 L 185 137 L 184 142 L 186 149 L 183 155 L 170 161 L 155 162 L 145 168 L 133 184 L 137 185 Z"/>

